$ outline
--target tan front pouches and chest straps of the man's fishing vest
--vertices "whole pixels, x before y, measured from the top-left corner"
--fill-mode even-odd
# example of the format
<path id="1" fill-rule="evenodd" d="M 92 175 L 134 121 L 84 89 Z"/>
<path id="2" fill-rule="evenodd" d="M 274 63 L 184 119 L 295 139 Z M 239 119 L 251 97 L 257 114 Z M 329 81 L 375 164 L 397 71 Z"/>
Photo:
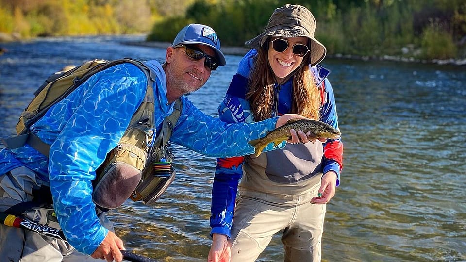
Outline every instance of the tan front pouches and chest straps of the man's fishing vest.
<path id="1" fill-rule="evenodd" d="M 152 88 L 148 86 L 148 89 Z M 153 100 L 146 108 L 136 111 L 118 145 L 107 154 L 96 171 L 92 199 L 100 209 L 117 208 L 128 197 L 151 204 L 165 192 L 175 179 L 176 171 L 172 164 L 175 157 L 168 141 L 182 107 L 181 99 L 177 99 L 173 113 L 164 119 L 158 134 L 154 133 L 155 129 L 141 126 L 141 119 L 146 118 L 137 116 L 141 112 L 150 112 L 153 117 Z"/>

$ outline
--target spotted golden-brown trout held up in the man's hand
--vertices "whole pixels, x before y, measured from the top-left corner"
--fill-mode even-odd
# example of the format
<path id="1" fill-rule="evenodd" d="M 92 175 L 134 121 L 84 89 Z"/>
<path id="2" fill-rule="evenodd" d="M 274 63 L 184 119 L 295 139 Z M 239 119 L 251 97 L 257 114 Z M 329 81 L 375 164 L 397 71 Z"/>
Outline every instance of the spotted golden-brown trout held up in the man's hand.
<path id="1" fill-rule="evenodd" d="M 291 119 L 286 124 L 270 131 L 265 137 L 254 139 L 248 143 L 256 149 L 256 157 L 258 157 L 262 150 L 269 144 L 273 143 L 273 147 L 278 146 L 282 141 L 291 139 L 290 129 L 303 131 L 304 133 L 311 132 L 309 140 L 314 140 L 319 137 L 330 139 L 340 138 L 340 131 L 333 126 L 311 119 Z"/>

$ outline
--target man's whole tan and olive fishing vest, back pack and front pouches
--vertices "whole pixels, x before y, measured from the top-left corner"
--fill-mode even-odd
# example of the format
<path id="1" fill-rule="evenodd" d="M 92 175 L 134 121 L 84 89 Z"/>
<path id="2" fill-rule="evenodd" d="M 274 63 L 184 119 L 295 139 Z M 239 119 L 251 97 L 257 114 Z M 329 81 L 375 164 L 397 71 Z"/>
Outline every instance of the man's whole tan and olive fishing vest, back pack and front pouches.
<path id="1" fill-rule="evenodd" d="M 96 171 L 92 199 L 102 210 L 117 208 L 128 198 L 150 204 L 162 195 L 175 178 L 172 165 L 174 156 L 168 148 L 168 141 L 181 115 L 183 103 L 181 99 L 175 101 L 173 113 L 164 119 L 157 133 L 154 126 L 153 93 L 156 76 L 144 63 L 129 58 L 111 62 L 92 60 L 51 75 L 34 93 L 36 97 L 21 114 L 17 136 L 1 139 L 9 149 L 27 143 L 49 157 L 50 145 L 31 133 L 30 126 L 90 76 L 121 63 L 139 67 L 146 74 L 148 83 L 144 100 L 133 114 L 118 145 L 107 154 Z"/>

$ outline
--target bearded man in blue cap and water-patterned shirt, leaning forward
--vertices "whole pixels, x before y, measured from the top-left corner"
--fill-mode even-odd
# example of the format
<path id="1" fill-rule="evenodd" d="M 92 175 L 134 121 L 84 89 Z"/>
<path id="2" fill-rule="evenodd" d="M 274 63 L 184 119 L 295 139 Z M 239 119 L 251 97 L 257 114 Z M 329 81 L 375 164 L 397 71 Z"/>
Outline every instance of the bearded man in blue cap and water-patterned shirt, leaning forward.
<path id="1" fill-rule="evenodd" d="M 254 124 L 229 125 L 203 114 L 184 97 L 204 85 L 212 70 L 225 65 L 220 41 L 208 26 L 184 27 L 167 48 L 164 65 L 157 61 L 145 65 L 155 76 L 155 133 L 161 131 L 180 98 L 181 115 L 173 123 L 170 141 L 202 154 L 231 157 L 253 153 L 247 141 L 291 118 L 301 118 L 283 115 Z M 0 225 L 0 257 L 22 262 L 77 261 L 76 256 L 84 253 L 94 259 L 122 260 L 123 242 L 112 232 L 104 212 L 96 212 L 92 182 L 145 99 L 147 85 L 146 74 L 132 63 L 96 73 L 31 126 L 31 133 L 50 145 L 48 157 L 29 144 L 0 151 L 0 212 L 31 201 L 37 196 L 34 192 L 46 188 L 53 200 L 50 210 L 33 208 L 24 215 L 34 219 L 40 213 L 41 222 L 50 226 L 56 216 L 55 226 L 61 227 L 67 238 L 63 242 Z M 308 142 L 302 131 L 292 130 L 291 134 L 292 142 Z M 112 193 L 116 192 L 109 195 Z"/>

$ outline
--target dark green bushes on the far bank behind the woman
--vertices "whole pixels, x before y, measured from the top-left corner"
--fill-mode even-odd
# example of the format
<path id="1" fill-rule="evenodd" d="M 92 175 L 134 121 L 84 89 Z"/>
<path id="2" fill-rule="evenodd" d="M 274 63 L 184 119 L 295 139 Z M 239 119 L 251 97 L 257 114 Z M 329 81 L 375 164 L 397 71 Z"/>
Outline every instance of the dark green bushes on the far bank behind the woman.
<path id="1" fill-rule="evenodd" d="M 306 6 L 316 16 L 316 37 L 327 47 L 329 55 L 417 59 L 464 56 L 464 52 L 456 51 L 455 45 L 455 40 L 466 33 L 466 27 L 460 26 L 466 24 L 466 3 L 462 4 L 461 0 L 450 0 L 449 5 L 445 5 L 445 0 L 294 2 Z M 182 17 L 185 17 L 183 21 L 212 26 L 223 46 L 243 46 L 244 41 L 262 32 L 273 10 L 285 3 L 282 0 L 196 0 Z M 172 19 L 155 24 L 148 40 L 166 39 L 163 36 L 167 34 L 166 28 L 178 31 L 185 24 L 171 25 Z M 443 31 L 432 28 L 427 23 L 429 19 L 442 23 Z"/>

